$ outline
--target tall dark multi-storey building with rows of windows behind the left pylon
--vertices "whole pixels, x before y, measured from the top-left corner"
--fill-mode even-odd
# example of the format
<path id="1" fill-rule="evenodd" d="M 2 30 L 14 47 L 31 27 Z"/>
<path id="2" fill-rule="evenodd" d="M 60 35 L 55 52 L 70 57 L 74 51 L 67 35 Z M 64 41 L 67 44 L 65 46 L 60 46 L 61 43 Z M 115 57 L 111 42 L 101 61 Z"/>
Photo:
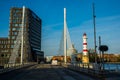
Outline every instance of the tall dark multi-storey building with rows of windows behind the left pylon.
<path id="1" fill-rule="evenodd" d="M 16 38 L 19 30 L 22 28 L 22 14 L 23 8 L 11 8 L 10 10 L 10 21 L 9 21 L 9 50 L 8 54 L 12 54 Z M 44 58 L 44 52 L 41 51 L 41 19 L 29 8 L 25 8 L 25 21 L 24 21 L 24 33 L 27 33 L 24 39 L 27 39 L 24 46 L 24 61 L 37 61 L 38 58 Z M 7 40 L 7 39 L 6 39 Z M 20 52 L 17 61 L 20 62 Z M 0 53 L 0 54 L 3 54 Z"/>

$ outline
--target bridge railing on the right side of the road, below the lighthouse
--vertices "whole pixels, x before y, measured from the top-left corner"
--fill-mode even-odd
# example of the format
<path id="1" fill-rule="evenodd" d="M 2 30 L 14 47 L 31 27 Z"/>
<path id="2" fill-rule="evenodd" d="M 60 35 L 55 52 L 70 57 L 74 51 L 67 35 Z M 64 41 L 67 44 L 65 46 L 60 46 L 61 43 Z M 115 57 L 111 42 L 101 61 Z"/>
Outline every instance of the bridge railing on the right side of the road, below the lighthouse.
<path id="1" fill-rule="evenodd" d="M 95 64 L 95 63 L 89 63 L 89 64 L 83 64 L 83 63 L 73 63 L 73 64 L 62 64 L 65 68 L 69 68 L 71 70 L 75 70 L 78 72 L 82 72 L 88 75 L 93 75 L 96 77 L 104 77 L 105 75 L 112 73 L 112 72 L 118 72 L 120 73 L 120 64 L 117 64 L 115 66 L 115 69 L 113 70 L 112 67 L 107 64 L 109 67 L 108 69 L 101 66 L 101 64 Z M 112 70 L 111 70 L 112 69 Z"/>

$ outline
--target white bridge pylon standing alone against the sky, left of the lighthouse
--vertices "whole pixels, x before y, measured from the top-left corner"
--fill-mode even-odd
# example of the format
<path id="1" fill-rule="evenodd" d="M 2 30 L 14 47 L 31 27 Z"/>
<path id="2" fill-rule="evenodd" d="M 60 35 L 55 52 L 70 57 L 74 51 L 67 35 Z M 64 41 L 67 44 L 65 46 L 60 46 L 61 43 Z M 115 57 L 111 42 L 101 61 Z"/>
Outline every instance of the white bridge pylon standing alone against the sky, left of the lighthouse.
<path id="1" fill-rule="evenodd" d="M 64 8 L 64 63 L 66 64 L 67 62 L 67 35 L 66 35 L 66 8 Z"/>

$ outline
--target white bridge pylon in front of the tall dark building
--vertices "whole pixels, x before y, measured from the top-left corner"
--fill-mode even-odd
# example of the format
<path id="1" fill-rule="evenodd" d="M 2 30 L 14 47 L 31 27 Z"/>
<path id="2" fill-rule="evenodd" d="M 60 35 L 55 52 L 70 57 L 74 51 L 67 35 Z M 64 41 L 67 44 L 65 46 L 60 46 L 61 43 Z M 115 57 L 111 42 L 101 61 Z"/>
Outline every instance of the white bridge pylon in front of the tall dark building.
<path id="1" fill-rule="evenodd" d="M 23 14 L 22 14 L 22 30 L 21 30 L 21 64 L 23 64 L 24 17 L 25 17 L 25 6 L 23 6 Z"/>

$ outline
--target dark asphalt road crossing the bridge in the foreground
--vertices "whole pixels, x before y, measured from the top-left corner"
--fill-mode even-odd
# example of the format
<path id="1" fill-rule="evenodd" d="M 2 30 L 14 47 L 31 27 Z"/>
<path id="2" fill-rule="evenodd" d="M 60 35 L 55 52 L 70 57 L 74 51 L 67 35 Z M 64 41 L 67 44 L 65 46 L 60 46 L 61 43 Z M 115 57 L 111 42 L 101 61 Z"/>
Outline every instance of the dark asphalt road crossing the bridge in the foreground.
<path id="1" fill-rule="evenodd" d="M 38 64 L 0 75 L 0 80 L 96 80 L 61 66 Z"/>

